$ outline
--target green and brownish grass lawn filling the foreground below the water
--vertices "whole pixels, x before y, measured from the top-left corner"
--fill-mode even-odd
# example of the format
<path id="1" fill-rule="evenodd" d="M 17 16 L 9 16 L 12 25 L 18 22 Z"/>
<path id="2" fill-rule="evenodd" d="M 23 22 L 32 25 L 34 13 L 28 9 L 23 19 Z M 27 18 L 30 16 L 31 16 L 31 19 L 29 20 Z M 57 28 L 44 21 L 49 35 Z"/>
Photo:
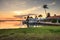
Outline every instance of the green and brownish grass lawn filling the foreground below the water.
<path id="1" fill-rule="evenodd" d="M 1 29 L 0 40 L 60 40 L 60 26 Z"/>

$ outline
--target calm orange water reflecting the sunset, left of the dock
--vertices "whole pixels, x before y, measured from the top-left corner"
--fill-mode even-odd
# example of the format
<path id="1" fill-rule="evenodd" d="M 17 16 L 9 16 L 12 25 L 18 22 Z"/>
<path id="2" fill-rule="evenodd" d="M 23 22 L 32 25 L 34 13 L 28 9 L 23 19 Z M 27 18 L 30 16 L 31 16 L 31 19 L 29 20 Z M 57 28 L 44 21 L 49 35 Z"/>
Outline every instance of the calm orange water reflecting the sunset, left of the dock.
<path id="1" fill-rule="evenodd" d="M 0 22 L 0 29 L 12 29 L 12 28 L 27 28 L 26 25 L 22 24 L 22 21 L 5 21 Z"/>

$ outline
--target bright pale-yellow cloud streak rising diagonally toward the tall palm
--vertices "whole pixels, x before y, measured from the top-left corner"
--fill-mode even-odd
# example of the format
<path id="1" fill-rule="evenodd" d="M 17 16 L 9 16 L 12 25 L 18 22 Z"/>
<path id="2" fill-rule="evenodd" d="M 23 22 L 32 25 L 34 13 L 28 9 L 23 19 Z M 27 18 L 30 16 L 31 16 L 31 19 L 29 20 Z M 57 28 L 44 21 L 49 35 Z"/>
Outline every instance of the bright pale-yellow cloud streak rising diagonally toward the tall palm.
<path id="1" fill-rule="evenodd" d="M 25 9 L 25 10 L 21 10 L 21 11 L 13 11 L 16 15 L 24 15 L 24 14 L 29 14 L 29 13 L 33 13 L 34 11 L 40 9 L 41 6 L 37 6 L 37 7 L 32 7 L 32 8 L 29 8 L 29 9 Z"/>

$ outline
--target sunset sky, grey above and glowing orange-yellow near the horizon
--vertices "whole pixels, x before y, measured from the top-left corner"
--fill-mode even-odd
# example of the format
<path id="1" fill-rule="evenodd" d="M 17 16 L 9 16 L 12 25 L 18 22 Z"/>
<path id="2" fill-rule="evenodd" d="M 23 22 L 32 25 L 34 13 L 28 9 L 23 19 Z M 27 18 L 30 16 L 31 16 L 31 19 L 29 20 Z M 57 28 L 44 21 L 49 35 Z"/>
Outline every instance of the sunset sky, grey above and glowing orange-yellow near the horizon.
<path id="1" fill-rule="evenodd" d="M 60 0 L 0 0 L 0 19 L 26 14 L 42 14 L 45 17 L 45 4 L 49 8 L 47 13 L 60 15 Z"/>

